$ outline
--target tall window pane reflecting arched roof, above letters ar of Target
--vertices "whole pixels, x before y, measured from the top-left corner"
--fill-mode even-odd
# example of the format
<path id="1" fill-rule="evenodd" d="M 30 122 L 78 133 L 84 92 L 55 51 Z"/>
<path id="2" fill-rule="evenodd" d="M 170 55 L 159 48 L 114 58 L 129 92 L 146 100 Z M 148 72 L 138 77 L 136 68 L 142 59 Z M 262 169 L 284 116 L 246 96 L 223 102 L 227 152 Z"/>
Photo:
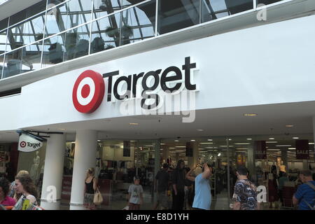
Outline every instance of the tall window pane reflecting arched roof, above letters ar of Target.
<path id="1" fill-rule="evenodd" d="M 121 45 L 155 36 L 155 1 L 122 12 Z"/>

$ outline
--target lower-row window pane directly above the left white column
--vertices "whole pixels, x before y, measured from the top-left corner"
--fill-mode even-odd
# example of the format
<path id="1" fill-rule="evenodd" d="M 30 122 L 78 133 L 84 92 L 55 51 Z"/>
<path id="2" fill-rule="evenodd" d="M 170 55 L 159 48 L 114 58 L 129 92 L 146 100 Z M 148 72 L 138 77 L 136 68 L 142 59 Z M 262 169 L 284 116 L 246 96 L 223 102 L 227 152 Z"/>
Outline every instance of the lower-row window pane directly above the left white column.
<path id="1" fill-rule="evenodd" d="M 52 66 L 64 61 L 66 34 L 52 36 L 44 41 L 42 67 Z"/>

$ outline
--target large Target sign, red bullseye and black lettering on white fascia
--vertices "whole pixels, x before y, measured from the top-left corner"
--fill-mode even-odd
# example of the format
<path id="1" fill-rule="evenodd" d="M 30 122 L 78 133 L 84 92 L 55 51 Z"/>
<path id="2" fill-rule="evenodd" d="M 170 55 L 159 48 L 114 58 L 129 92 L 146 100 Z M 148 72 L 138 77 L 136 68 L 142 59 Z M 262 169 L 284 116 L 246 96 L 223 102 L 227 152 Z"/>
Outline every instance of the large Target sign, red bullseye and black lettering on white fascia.
<path id="1" fill-rule="evenodd" d="M 73 105 L 81 113 L 94 112 L 104 98 L 104 78 L 107 78 L 109 84 L 107 87 L 107 102 L 139 97 L 141 98 L 139 106 L 142 109 L 158 109 L 158 105 L 161 102 L 157 93 L 159 90 L 167 94 L 181 92 L 184 88 L 188 91 L 197 90 L 196 84 L 192 83 L 193 78 L 190 77 L 193 76 L 193 71 L 196 68 L 197 64 L 191 62 L 190 57 L 185 57 L 184 64 L 180 67 L 169 66 L 164 70 L 157 68 L 152 71 L 139 71 L 139 73 L 129 76 L 119 76 L 119 70 L 102 75 L 97 71 L 83 71 L 73 86 Z M 118 76 L 118 78 L 114 80 L 113 76 Z M 149 84 L 148 80 L 150 81 Z M 171 87 L 170 83 L 175 85 Z M 120 84 L 127 84 L 127 89 L 123 89 L 123 85 Z M 139 91 L 141 91 L 141 94 L 137 94 Z"/>

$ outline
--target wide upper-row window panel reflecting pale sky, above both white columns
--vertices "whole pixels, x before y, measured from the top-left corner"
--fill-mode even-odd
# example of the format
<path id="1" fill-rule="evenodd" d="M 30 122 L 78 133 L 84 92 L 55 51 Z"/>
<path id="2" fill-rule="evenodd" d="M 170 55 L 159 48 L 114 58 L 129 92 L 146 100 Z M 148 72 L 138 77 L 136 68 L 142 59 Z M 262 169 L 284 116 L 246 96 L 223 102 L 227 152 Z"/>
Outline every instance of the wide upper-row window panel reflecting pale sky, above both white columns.
<path id="1" fill-rule="evenodd" d="M 51 8 L 47 13 L 46 36 L 89 22 L 91 8 L 92 0 L 72 0 Z"/>

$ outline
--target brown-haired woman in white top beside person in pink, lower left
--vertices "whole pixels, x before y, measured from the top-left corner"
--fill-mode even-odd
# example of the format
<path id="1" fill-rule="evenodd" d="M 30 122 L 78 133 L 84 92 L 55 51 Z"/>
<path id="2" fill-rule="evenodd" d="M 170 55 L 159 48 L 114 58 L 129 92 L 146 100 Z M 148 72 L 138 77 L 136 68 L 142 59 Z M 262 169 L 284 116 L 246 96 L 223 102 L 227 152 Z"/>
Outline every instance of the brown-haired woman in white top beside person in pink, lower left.
<path id="1" fill-rule="evenodd" d="M 30 204 L 37 205 L 36 197 L 38 196 L 38 193 L 28 174 L 15 176 L 15 192 L 17 194 L 22 194 L 22 197 L 16 202 L 12 210 L 22 210 L 22 204 L 25 199 L 29 200 Z"/>

